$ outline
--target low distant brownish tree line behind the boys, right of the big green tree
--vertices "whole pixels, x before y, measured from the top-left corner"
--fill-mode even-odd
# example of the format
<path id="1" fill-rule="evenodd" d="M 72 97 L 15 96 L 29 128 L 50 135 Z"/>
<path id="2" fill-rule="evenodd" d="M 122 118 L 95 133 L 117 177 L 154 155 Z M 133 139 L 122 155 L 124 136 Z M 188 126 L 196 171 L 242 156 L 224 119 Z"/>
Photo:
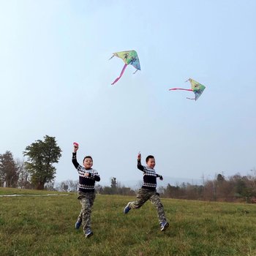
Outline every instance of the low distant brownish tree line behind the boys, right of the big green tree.
<path id="1" fill-rule="evenodd" d="M 202 185 L 181 183 L 172 186 L 167 184 L 166 187 L 158 187 L 157 191 L 162 197 L 167 198 L 256 203 L 255 185 L 255 174 L 241 176 L 237 173 L 225 178 L 219 173 L 216 178 L 203 181 Z M 56 189 L 63 192 L 75 192 L 78 190 L 78 181 L 62 181 Z M 102 187 L 97 184 L 95 189 L 102 195 L 136 195 L 137 193 L 137 189 L 122 186 L 115 177 L 111 178 L 110 186 Z"/>

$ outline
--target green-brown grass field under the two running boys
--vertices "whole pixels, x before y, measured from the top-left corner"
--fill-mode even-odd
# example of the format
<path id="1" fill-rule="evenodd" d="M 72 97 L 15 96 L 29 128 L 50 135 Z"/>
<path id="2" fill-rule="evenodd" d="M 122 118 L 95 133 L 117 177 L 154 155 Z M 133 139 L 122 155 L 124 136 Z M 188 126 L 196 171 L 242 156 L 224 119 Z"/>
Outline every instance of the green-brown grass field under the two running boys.
<path id="1" fill-rule="evenodd" d="M 147 202 L 123 214 L 135 197 L 97 195 L 94 236 L 75 230 L 76 194 L 0 188 L 0 255 L 256 255 L 256 206 L 162 199 L 170 227 L 160 232 Z M 55 192 L 56 193 L 56 192 Z"/>

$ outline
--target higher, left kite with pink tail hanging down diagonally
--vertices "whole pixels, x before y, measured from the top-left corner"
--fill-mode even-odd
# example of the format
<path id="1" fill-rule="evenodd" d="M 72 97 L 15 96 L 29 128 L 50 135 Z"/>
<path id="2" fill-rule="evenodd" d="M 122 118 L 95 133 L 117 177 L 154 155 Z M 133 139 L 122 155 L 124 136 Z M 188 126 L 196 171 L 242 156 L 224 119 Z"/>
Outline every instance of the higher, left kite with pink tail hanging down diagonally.
<path id="1" fill-rule="evenodd" d="M 140 61 L 138 54 L 136 53 L 135 50 L 126 50 L 118 53 L 113 53 L 113 56 L 110 59 L 112 59 L 114 56 L 121 58 L 124 61 L 124 67 L 121 70 L 121 74 L 118 76 L 118 78 L 116 78 L 116 80 L 114 80 L 113 83 L 111 83 L 112 85 L 121 78 L 121 76 L 124 74 L 124 70 L 127 68 L 129 64 L 131 64 L 136 69 L 136 71 L 133 74 L 140 70 Z"/>

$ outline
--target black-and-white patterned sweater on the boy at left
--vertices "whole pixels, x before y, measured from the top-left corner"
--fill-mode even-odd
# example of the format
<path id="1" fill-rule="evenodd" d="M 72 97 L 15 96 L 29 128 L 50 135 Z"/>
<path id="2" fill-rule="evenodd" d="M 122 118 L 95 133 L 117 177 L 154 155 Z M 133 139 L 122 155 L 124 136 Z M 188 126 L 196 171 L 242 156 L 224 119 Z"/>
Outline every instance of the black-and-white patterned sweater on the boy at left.
<path id="1" fill-rule="evenodd" d="M 79 184 L 78 190 L 81 192 L 94 192 L 95 189 L 95 181 L 100 181 L 99 173 L 97 170 L 89 169 L 86 170 L 85 167 L 78 164 L 77 154 L 72 153 L 72 163 L 75 168 L 78 170 L 79 175 Z M 85 173 L 89 173 L 89 176 L 85 176 Z"/>

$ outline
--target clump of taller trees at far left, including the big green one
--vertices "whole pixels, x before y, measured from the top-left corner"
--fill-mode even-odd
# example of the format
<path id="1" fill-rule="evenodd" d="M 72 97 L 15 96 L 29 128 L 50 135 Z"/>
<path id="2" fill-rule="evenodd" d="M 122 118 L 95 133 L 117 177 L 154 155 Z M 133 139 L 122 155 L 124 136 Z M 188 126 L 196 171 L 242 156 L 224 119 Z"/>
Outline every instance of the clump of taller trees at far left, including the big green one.
<path id="1" fill-rule="evenodd" d="M 61 148 L 56 139 L 45 135 L 25 148 L 27 161 L 14 159 L 11 151 L 0 154 L 0 186 L 21 189 L 45 189 L 56 176 L 54 164 L 59 162 Z"/>

